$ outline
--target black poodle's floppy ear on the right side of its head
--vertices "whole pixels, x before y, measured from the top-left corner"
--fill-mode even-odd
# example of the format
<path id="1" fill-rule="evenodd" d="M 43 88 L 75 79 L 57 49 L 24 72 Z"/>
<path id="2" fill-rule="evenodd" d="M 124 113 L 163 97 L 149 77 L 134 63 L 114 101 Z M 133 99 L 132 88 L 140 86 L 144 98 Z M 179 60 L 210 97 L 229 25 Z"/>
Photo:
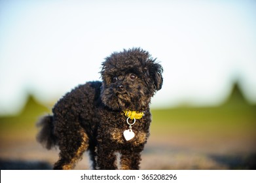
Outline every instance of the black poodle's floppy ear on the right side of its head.
<path id="1" fill-rule="evenodd" d="M 160 90 L 162 88 L 162 66 L 154 60 L 147 61 L 145 67 L 146 75 L 149 76 L 151 84 L 153 82 L 155 90 Z"/>

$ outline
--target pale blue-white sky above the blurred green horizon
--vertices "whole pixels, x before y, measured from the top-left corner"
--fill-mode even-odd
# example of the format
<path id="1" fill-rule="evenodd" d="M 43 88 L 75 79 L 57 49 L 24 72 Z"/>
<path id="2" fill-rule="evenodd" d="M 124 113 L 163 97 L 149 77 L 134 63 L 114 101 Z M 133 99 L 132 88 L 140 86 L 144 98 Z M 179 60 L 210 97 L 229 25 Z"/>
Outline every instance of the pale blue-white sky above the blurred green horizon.
<path id="1" fill-rule="evenodd" d="M 112 52 L 141 47 L 164 68 L 152 107 L 218 105 L 240 78 L 256 103 L 256 1 L 0 1 L 0 115 L 27 93 L 56 101 L 100 80 Z"/>

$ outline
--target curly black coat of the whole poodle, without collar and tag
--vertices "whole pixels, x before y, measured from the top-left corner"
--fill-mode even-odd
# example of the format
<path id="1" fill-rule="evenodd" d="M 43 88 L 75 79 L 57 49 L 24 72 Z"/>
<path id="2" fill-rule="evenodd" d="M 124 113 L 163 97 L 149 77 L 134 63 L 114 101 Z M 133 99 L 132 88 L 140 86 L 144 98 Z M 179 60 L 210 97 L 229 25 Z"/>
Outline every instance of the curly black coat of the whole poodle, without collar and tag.
<path id="1" fill-rule="evenodd" d="M 139 169 L 141 151 L 149 137 L 151 97 L 162 88 L 162 66 L 148 52 L 132 48 L 114 52 L 102 63 L 102 82 L 87 82 L 67 93 L 45 116 L 37 140 L 60 148 L 54 169 L 73 169 L 88 151 L 93 169 Z M 126 141 L 123 110 L 144 112 L 132 125 L 135 137 Z"/>

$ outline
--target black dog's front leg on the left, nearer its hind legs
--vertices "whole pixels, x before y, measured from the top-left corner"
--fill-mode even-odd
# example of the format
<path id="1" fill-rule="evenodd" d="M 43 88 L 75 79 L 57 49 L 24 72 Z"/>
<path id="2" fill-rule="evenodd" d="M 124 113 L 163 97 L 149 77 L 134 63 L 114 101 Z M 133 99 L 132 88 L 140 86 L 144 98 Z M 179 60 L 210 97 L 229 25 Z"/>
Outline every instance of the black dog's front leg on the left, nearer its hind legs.
<path id="1" fill-rule="evenodd" d="M 117 169 L 117 156 L 111 146 L 107 144 L 98 144 L 96 150 L 96 169 L 115 170 Z"/>

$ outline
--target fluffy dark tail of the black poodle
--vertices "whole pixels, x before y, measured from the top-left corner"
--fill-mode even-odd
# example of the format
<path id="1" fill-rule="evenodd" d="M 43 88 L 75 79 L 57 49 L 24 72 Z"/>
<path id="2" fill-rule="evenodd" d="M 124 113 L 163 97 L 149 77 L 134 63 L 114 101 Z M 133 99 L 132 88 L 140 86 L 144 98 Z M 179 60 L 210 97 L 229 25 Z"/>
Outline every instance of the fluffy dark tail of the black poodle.
<path id="1" fill-rule="evenodd" d="M 41 127 L 41 130 L 37 134 L 37 142 L 40 142 L 50 150 L 53 146 L 57 144 L 57 138 L 53 133 L 54 130 L 54 124 L 53 124 L 54 118 L 53 116 L 44 116 L 39 120 L 37 123 L 37 127 Z"/>

